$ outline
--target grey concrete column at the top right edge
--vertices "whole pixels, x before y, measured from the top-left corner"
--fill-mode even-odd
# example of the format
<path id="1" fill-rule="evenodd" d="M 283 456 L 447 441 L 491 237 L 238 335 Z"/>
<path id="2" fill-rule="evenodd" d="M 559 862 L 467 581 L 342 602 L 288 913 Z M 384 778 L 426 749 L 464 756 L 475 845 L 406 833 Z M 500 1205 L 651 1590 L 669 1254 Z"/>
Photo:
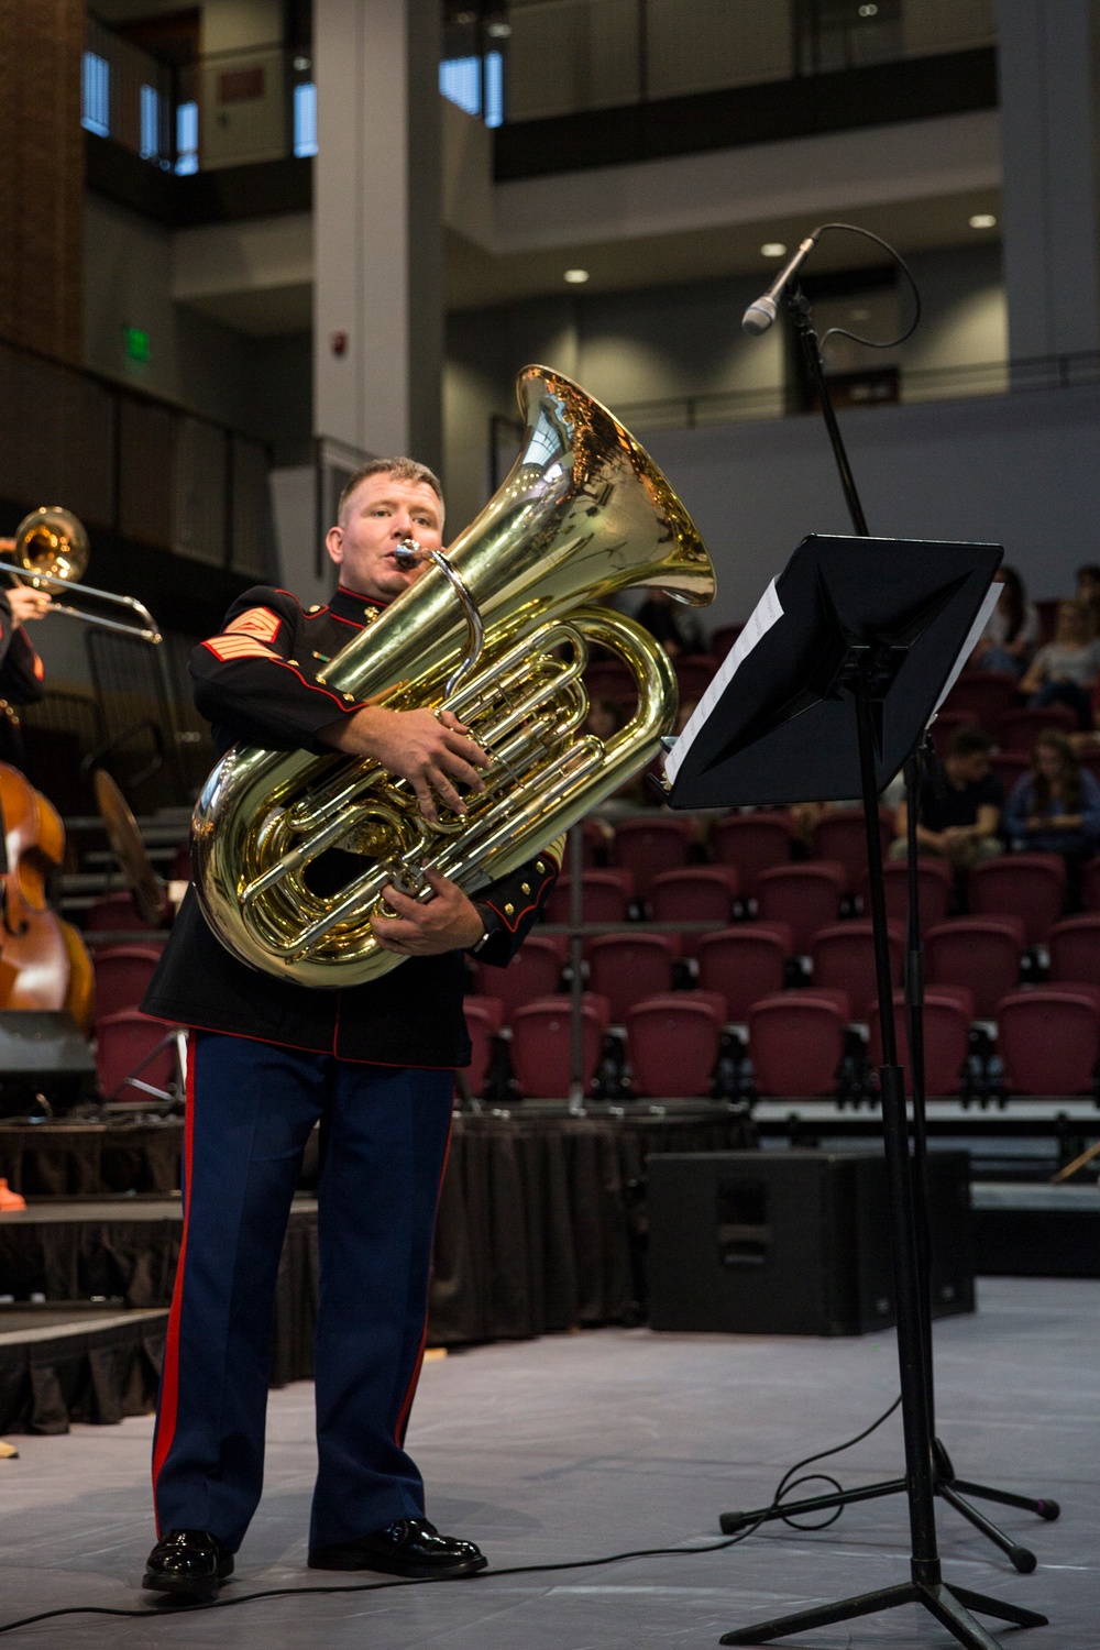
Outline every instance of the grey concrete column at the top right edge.
<path id="1" fill-rule="evenodd" d="M 1009 353 L 1100 348 L 1090 0 L 998 0 Z"/>

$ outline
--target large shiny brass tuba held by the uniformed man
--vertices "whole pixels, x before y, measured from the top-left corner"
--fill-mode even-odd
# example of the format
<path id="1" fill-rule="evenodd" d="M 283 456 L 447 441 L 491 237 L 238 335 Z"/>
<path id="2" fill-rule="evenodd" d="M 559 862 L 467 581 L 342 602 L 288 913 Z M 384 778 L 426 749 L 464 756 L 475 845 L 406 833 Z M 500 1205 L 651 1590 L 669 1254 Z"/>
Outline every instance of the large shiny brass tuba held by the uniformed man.
<path id="1" fill-rule="evenodd" d="M 242 962 L 346 987 L 401 964 L 369 919 L 386 883 L 430 896 L 432 866 L 470 896 L 533 858 L 653 759 L 676 676 L 653 637 L 599 602 L 651 586 L 714 596 L 711 558 L 653 460 L 579 384 L 544 366 L 516 383 L 526 437 L 510 475 L 435 566 L 318 678 L 389 710 L 452 710 L 493 757 L 465 817 L 421 815 L 364 757 L 236 746 L 195 807 L 195 886 Z M 638 705 L 617 734 L 584 733 L 592 645 L 622 658 Z M 336 893 L 310 886 L 330 848 L 360 855 Z"/>

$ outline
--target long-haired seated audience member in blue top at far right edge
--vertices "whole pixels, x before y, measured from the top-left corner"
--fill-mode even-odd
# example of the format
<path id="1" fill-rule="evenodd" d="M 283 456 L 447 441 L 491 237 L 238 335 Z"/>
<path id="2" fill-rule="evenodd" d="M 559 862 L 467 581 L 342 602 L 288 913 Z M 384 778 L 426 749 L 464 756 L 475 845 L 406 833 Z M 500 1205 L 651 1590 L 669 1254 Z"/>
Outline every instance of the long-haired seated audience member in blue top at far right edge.
<path id="1" fill-rule="evenodd" d="M 1080 870 L 1100 848 L 1100 784 L 1080 766 L 1067 734 L 1054 728 L 1039 734 L 1031 772 L 1021 774 L 1008 799 L 1004 825 L 1014 848 L 1065 858 L 1075 904 Z"/>

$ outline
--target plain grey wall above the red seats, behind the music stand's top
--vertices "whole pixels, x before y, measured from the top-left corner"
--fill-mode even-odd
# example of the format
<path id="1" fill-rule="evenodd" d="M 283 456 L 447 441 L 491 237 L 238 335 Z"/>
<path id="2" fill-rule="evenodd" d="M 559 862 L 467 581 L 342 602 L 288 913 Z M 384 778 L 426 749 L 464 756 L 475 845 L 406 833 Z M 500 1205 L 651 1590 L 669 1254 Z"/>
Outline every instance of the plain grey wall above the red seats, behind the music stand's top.
<path id="1" fill-rule="evenodd" d="M 841 414 L 872 533 L 1004 546 L 1037 597 L 1098 558 L 1100 388 Z M 806 533 L 849 531 L 818 417 L 651 432 L 719 574 L 709 625 L 744 619 Z"/>

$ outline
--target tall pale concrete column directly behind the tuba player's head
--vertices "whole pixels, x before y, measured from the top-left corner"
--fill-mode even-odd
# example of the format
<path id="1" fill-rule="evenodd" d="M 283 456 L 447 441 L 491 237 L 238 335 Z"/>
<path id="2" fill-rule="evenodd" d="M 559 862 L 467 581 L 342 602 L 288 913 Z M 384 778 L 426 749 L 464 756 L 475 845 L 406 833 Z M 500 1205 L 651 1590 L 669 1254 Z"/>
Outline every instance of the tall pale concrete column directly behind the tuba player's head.
<path id="1" fill-rule="evenodd" d="M 315 0 L 313 429 L 442 457 L 439 0 Z"/>

